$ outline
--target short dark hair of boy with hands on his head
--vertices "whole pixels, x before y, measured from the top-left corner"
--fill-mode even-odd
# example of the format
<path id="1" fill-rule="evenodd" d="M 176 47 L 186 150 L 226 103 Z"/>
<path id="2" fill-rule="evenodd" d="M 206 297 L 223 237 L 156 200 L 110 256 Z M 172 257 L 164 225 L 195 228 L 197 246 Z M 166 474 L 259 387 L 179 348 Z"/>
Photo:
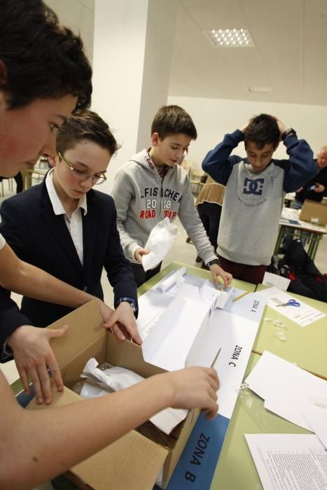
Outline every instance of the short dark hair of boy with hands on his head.
<path id="1" fill-rule="evenodd" d="M 280 141 L 277 119 L 269 114 L 259 114 L 249 122 L 244 130 L 244 144 L 253 141 L 261 150 L 266 144 L 272 144 L 276 149 Z"/>

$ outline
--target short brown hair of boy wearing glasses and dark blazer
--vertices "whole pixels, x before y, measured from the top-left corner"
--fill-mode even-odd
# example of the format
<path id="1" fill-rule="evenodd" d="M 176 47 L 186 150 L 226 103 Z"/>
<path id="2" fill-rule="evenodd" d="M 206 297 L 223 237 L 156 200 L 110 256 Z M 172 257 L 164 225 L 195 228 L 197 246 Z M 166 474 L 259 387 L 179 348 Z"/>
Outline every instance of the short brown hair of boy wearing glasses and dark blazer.
<path id="1" fill-rule="evenodd" d="M 77 111 L 57 130 L 57 151 L 64 153 L 78 141 L 88 139 L 114 155 L 120 148 L 109 125 L 100 116 L 85 109 Z"/>

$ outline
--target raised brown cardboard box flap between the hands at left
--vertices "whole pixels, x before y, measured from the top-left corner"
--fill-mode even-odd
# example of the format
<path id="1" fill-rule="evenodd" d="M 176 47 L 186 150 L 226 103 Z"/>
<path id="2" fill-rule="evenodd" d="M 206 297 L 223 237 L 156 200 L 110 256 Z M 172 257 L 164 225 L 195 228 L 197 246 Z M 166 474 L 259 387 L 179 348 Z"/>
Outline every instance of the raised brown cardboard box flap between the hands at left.
<path id="1" fill-rule="evenodd" d="M 69 325 L 69 329 L 64 335 L 51 340 L 51 347 L 59 366 L 62 367 L 68 363 L 76 353 L 83 351 L 97 338 L 104 337 L 106 330 L 103 323 L 99 305 L 95 300 L 83 304 L 55 323 L 51 323 L 47 328 L 60 328 L 63 325 Z"/>

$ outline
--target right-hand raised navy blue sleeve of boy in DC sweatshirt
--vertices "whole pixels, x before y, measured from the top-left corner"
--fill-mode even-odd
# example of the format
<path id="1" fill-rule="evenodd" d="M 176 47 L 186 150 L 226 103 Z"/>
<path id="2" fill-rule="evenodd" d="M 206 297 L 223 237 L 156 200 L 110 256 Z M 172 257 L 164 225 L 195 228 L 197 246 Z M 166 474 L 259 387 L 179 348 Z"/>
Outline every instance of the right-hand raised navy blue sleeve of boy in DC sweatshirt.
<path id="1" fill-rule="evenodd" d="M 290 134 L 284 140 L 284 145 L 289 155 L 289 160 L 284 166 L 284 191 L 293 193 L 316 175 L 317 167 L 307 141 Z"/>

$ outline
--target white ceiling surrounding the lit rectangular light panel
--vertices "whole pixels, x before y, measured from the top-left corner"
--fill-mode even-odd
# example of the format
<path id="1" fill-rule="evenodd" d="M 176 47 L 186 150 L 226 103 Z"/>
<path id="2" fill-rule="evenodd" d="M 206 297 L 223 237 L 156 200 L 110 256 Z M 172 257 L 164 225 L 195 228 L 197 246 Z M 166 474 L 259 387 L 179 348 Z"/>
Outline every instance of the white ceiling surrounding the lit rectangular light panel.
<path id="1" fill-rule="evenodd" d="M 253 48 L 203 34 L 242 27 Z M 327 0 L 179 0 L 169 95 L 327 105 L 326 47 Z"/>

